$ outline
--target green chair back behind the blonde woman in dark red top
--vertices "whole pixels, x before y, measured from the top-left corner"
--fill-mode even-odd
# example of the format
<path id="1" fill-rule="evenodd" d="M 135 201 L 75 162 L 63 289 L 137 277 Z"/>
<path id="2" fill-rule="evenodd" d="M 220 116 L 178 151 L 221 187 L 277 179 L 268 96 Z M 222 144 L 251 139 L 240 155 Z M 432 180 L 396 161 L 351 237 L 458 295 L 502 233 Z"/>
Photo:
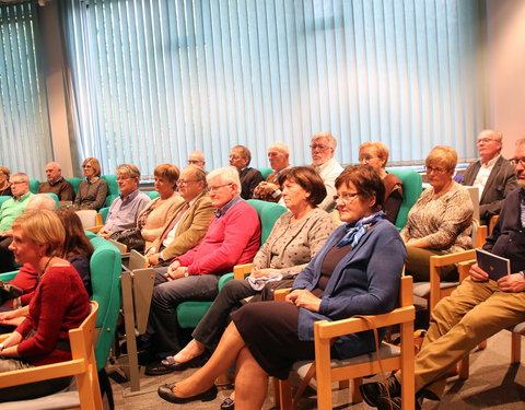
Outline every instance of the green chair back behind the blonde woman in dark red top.
<path id="1" fill-rule="evenodd" d="M 115 245 L 100 236 L 90 238 L 90 242 L 95 248 L 90 260 L 92 298 L 98 303 L 96 328 L 100 336 L 95 356 L 97 368 L 102 370 L 106 365 L 120 309 L 121 256 Z"/>

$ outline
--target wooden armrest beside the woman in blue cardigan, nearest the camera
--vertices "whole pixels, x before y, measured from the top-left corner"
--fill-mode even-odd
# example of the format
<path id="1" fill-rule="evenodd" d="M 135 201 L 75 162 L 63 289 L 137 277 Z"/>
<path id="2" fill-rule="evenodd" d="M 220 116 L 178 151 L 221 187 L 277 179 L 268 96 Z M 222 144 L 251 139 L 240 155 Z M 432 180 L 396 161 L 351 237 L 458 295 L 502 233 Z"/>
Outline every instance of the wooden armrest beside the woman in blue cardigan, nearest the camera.
<path id="1" fill-rule="evenodd" d="M 377 328 L 413 321 L 416 318 L 416 308 L 413 306 L 398 307 L 389 313 L 382 315 L 365 316 L 370 318 Z M 316 335 L 320 339 L 332 339 L 343 335 L 357 333 L 370 330 L 370 325 L 362 318 L 351 317 L 335 321 L 319 320 L 314 324 Z"/>

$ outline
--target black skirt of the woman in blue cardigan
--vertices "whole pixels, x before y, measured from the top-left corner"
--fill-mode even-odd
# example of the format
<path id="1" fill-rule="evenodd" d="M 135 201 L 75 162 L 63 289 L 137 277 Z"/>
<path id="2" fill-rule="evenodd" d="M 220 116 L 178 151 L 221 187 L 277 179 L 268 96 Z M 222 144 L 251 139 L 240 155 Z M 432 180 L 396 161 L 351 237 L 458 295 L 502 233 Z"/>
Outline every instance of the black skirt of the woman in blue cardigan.
<path id="1" fill-rule="evenodd" d="M 299 307 L 291 303 L 249 303 L 232 313 L 232 319 L 252 355 L 270 376 L 284 380 L 294 362 L 315 356 L 314 342 L 299 340 Z"/>

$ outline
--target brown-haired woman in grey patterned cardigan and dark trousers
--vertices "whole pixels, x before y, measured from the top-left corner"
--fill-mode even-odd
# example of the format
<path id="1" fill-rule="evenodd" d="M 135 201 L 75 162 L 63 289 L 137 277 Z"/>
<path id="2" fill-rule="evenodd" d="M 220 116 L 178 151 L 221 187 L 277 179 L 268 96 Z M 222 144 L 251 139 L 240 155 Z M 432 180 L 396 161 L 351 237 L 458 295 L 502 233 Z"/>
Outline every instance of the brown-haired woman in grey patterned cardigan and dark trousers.
<path id="1" fill-rule="evenodd" d="M 290 212 L 283 213 L 276 222 L 266 243 L 254 258 L 252 279 L 283 279 L 290 288 L 293 279 L 323 247 L 336 229 L 331 216 L 317 208 L 326 196 L 325 185 L 319 175 L 307 166 L 296 166 L 280 176 L 282 198 Z M 279 282 L 268 282 L 279 283 Z M 213 305 L 195 329 L 194 340 L 175 356 L 168 356 L 159 367 L 159 374 L 182 371 L 195 364 L 205 350 L 212 351 L 224 329 L 230 313 L 241 307 L 242 300 L 262 290 L 264 283 L 252 284 L 248 280 L 229 281 L 222 286 Z M 201 358 L 199 358 L 201 359 Z"/>

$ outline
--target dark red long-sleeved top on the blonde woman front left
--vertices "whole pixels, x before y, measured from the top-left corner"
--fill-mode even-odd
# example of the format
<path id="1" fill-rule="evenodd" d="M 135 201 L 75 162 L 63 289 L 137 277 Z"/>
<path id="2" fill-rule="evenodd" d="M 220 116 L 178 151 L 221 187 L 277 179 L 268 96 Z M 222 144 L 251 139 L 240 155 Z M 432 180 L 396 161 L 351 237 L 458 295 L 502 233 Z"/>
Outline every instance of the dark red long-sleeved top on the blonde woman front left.
<path id="1" fill-rule="evenodd" d="M 68 331 L 79 327 L 90 309 L 88 293 L 74 268 L 48 268 L 31 300 L 28 316 L 16 328 L 24 338 L 36 330 L 19 344 L 19 354 L 34 365 L 70 360 L 71 352 L 56 349 L 57 341 L 69 340 Z"/>

